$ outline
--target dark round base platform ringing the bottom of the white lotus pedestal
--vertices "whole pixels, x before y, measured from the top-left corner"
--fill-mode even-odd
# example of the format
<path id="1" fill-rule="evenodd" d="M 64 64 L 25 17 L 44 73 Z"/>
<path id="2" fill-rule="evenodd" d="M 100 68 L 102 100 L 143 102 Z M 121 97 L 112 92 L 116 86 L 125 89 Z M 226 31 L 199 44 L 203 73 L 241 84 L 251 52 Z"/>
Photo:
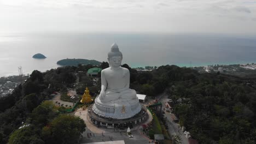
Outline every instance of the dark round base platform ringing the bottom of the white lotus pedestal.
<path id="1" fill-rule="evenodd" d="M 141 105 L 141 104 L 140 104 Z M 88 107 L 88 120 L 97 127 L 107 129 L 122 129 L 126 127 L 132 128 L 135 125 L 141 124 L 148 119 L 147 108 L 141 105 L 142 109 L 135 116 L 126 119 L 114 119 L 99 116 L 92 110 L 92 105 Z"/>

